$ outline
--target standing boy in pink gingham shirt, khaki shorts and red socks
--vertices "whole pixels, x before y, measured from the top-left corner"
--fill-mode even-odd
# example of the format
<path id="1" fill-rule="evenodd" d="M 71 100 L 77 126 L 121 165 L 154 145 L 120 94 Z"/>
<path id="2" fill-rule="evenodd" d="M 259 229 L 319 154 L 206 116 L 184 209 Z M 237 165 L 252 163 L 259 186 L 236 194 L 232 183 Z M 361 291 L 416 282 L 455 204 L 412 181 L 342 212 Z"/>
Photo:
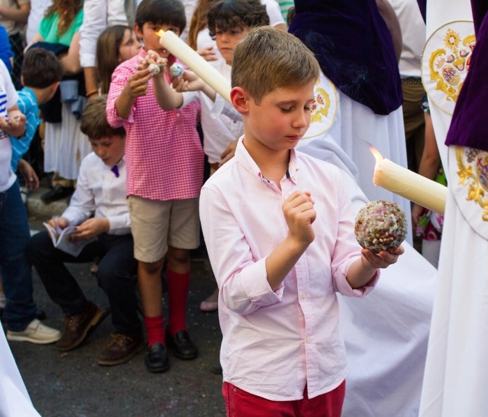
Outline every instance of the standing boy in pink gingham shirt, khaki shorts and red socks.
<path id="1" fill-rule="evenodd" d="M 203 183 L 204 153 L 196 130 L 199 105 L 162 110 L 153 93 L 153 74 L 137 70 L 148 50 L 169 65 L 174 57 L 159 43 L 160 29 L 180 34 L 185 10 L 178 0 L 143 0 L 135 31 L 144 47 L 112 75 L 107 120 L 127 132 L 127 195 L 134 236 L 138 283 L 148 337 L 146 367 L 169 369 L 166 342 L 175 356 L 197 357 L 185 323 L 190 283 L 190 250 L 199 246 L 198 197 Z M 169 77 L 163 68 L 159 77 Z M 167 261 L 169 321 L 163 328 L 161 271 Z"/>

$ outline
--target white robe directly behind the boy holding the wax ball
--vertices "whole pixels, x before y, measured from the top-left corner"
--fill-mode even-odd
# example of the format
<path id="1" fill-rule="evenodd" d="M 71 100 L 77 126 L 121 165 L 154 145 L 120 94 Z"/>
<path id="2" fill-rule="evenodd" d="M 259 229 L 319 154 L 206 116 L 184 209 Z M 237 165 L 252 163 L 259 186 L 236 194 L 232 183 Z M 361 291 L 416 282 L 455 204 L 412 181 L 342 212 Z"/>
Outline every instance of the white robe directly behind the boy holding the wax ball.
<path id="1" fill-rule="evenodd" d="M 311 124 L 298 149 L 344 170 L 356 211 L 382 198 L 399 203 L 410 218 L 409 202 L 373 185 L 369 152 L 371 144 L 406 167 L 402 109 L 378 116 L 323 78 L 321 84 L 328 116 Z M 371 294 L 358 300 L 340 296 L 349 364 L 344 417 L 418 416 L 436 269 L 410 243 L 403 245 L 404 255 L 381 271 Z"/>

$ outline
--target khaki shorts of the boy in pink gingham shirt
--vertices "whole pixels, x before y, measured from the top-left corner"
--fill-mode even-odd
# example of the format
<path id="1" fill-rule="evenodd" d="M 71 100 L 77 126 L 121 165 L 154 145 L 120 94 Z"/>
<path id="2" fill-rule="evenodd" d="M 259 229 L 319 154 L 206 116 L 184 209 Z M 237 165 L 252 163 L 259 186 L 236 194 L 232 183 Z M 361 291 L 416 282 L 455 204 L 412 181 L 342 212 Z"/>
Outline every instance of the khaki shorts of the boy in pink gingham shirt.
<path id="1" fill-rule="evenodd" d="M 196 249 L 200 244 L 198 198 L 160 202 L 128 197 L 134 257 L 138 261 L 159 261 L 168 246 Z"/>

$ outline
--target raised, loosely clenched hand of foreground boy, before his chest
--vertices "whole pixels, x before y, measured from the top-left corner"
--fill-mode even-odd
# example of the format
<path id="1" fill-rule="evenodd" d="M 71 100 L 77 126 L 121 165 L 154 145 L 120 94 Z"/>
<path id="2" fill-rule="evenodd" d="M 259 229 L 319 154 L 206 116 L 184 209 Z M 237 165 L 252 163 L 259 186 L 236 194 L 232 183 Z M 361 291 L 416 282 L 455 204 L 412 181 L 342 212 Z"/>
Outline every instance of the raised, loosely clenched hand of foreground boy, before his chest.
<path id="1" fill-rule="evenodd" d="M 299 245 L 308 246 L 314 241 L 312 223 L 317 217 L 314 203 L 310 192 L 295 191 L 282 204 L 284 219 L 288 225 L 288 236 Z"/>

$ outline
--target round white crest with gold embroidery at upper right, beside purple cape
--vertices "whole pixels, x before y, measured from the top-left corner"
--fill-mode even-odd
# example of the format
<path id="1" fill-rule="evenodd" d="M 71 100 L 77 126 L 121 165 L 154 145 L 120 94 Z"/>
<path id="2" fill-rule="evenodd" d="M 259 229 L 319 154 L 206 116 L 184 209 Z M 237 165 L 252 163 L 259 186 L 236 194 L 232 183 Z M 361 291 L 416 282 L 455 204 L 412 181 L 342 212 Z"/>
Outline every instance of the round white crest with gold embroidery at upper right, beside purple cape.
<path id="1" fill-rule="evenodd" d="M 448 114 L 454 112 L 474 47 L 474 26 L 468 21 L 444 24 L 425 43 L 422 82 L 430 100 Z"/>

